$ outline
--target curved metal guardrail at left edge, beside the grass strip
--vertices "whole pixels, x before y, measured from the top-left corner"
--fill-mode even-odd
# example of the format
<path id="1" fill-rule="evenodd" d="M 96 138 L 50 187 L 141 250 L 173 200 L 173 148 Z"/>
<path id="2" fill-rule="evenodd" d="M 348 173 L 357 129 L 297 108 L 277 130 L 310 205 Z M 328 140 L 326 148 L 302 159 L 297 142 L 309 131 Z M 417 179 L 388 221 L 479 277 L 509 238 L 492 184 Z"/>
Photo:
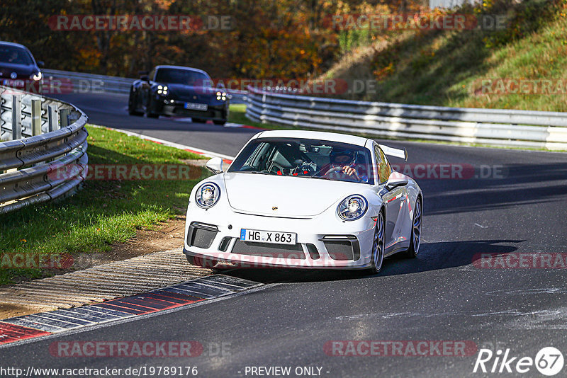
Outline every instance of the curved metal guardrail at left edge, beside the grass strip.
<path id="1" fill-rule="evenodd" d="M 0 86 L 0 120 L 0 214 L 74 193 L 88 172 L 82 110 Z"/>

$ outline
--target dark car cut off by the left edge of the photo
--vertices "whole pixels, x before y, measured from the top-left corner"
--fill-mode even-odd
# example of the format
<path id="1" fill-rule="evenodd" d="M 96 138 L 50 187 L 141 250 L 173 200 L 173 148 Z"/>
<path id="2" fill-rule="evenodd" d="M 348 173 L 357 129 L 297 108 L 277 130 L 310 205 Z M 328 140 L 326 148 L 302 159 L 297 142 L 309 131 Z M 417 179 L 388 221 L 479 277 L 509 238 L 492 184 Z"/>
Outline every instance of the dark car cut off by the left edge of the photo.
<path id="1" fill-rule="evenodd" d="M 0 84 L 23 90 L 38 90 L 43 74 L 26 46 L 0 41 Z"/>

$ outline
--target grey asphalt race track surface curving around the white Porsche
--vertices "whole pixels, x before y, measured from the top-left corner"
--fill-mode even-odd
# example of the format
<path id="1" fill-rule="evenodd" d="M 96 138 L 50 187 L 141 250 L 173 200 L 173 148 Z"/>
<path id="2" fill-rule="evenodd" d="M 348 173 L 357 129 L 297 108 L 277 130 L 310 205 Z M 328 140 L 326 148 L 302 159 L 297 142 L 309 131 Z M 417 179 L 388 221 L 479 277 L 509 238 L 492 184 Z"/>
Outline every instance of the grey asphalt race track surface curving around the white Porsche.
<path id="1" fill-rule="evenodd" d="M 126 113 L 127 96 L 61 98 L 84 110 L 91 123 L 232 156 L 257 132 L 132 117 Z M 266 285 L 198 306 L 6 346 L 1 359 L 23 368 L 189 365 L 198 367 L 199 377 L 252 377 L 247 367 L 259 366 L 289 366 L 291 377 L 297 376 L 296 367 L 322 367 L 323 377 L 483 377 L 520 374 L 515 362 L 512 373 L 473 373 L 477 351 L 345 357 L 324 347 L 331 340 L 446 340 L 493 353 L 510 348 L 510 357 L 535 358 L 548 346 L 565 355 L 565 267 L 482 268 L 472 262 L 480 253 L 567 254 L 567 154 L 383 143 L 407 148 L 410 164 L 463 164 L 473 166 L 474 175 L 489 176 L 417 178 L 425 217 L 415 260 L 390 258 L 375 276 L 232 270 L 226 274 Z M 402 163 L 397 160 L 392 163 Z M 557 256 L 565 262 L 566 255 Z M 93 340 L 196 340 L 204 351 L 184 358 L 50 354 L 56 341 Z M 224 353 L 216 348 L 222 343 Z M 542 377 L 534 366 L 523 376 Z"/>

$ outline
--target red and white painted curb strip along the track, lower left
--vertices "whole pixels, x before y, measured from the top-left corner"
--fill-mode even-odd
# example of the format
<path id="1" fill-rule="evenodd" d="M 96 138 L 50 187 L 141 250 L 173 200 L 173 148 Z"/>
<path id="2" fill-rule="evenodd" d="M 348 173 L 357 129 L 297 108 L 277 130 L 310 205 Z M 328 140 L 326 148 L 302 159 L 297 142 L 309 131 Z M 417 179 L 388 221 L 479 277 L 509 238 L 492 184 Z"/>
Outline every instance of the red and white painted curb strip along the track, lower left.
<path id="1" fill-rule="evenodd" d="M 262 286 L 259 282 L 242 278 L 208 275 L 99 304 L 16 316 L 0 321 L 0 345 L 174 309 L 259 286 Z"/>

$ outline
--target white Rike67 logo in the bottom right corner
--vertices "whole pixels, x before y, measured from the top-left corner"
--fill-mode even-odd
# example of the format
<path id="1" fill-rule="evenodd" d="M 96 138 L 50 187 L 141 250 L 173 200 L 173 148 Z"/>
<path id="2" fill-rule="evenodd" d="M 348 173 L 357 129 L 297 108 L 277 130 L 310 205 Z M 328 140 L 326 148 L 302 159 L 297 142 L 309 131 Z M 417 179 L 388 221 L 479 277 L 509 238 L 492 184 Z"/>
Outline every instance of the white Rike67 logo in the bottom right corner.
<path id="1" fill-rule="evenodd" d="M 534 367 L 541 374 L 548 377 L 558 374 L 563 370 L 563 354 L 557 348 L 546 347 L 539 350 L 535 358 L 529 356 L 515 356 L 510 353 L 510 348 L 505 351 L 499 349 L 493 353 L 490 349 L 478 351 L 473 373 L 519 373 L 531 372 L 533 375 Z"/>

